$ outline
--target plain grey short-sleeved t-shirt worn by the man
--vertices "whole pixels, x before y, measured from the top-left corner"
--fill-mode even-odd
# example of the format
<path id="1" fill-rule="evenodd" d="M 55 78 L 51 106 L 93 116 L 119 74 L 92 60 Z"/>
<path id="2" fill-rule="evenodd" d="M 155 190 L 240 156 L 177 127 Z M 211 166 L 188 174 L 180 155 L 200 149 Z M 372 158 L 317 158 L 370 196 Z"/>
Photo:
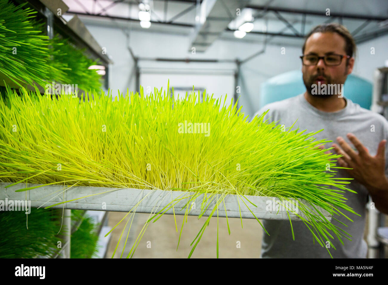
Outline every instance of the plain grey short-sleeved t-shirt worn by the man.
<path id="1" fill-rule="evenodd" d="M 344 97 L 345 98 L 345 97 Z M 380 114 L 374 113 L 360 107 L 359 104 L 353 103 L 350 99 L 345 98 L 346 106 L 340 111 L 324 112 L 312 106 L 305 99 L 303 94 L 288 98 L 279 102 L 265 105 L 256 112 L 261 115 L 263 112 L 270 110 L 264 117 L 264 120 L 279 121 L 278 124 L 284 124 L 286 130 L 288 127 L 299 127 L 299 131 L 307 132 L 323 131 L 314 135 L 317 140 L 329 139 L 334 143 L 337 136 L 342 136 L 346 142 L 353 147 L 353 144 L 346 137 L 347 133 L 353 133 L 360 142 L 367 147 L 371 155 L 376 155 L 379 142 L 388 138 L 388 122 Z M 299 132 L 298 131 L 298 132 Z M 306 133 L 307 133 L 306 132 Z M 326 143 L 325 148 L 330 148 L 332 143 Z M 335 153 L 334 150 L 331 152 Z M 386 155 L 388 151 L 386 151 Z M 386 170 L 388 169 L 388 156 L 386 159 Z M 338 172 L 333 178 L 352 178 L 345 169 L 336 169 Z M 387 173 L 387 171 L 386 171 Z M 343 195 L 348 199 L 346 203 L 353 210 L 360 214 L 357 216 L 347 211 L 343 213 L 353 222 L 343 216 L 336 216 L 338 220 L 345 223 L 345 227 L 332 219 L 334 225 L 340 226 L 347 233 L 352 235 L 352 241 L 342 238 L 344 245 L 340 243 L 334 235 L 334 246 L 329 249 L 334 258 L 365 258 L 367 254 L 367 244 L 363 239 L 365 229 L 365 206 L 368 200 L 368 191 L 364 185 L 355 180 L 349 180 L 351 183 L 345 187 L 357 192 L 351 193 L 346 191 Z M 335 187 L 331 187 L 335 188 Z M 270 236 L 263 232 L 262 257 L 263 258 L 330 258 L 326 247 L 321 247 L 314 240 L 311 232 L 302 221 L 295 221 L 293 230 L 295 240 L 292 238 L 291 226 L 289 221 L 264 220 L 263 226 Z"/>

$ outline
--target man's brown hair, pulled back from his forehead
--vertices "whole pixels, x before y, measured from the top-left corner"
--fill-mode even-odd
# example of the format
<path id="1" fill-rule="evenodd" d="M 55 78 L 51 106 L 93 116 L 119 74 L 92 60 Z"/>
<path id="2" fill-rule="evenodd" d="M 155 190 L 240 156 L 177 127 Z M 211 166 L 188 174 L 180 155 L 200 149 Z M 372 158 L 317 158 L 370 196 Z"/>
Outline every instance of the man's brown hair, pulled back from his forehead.
<path id="1" fill-rule="evenodd" d="M 303 43 L 302 47 L 302 53 L 305 53 L 305 47 L 306 47 L 306 41 L 307 39 L 314 33 L 337 33 L 338 35 L 342 36 L 345 40 L 345 52 L 350 57 L 355 56 L 356 52 L 356 43 L 354 42 L 352 34 L 349 32 L 348 29 L 345 28 L 345 26 L 342 26 L 337 23 L 330 23 L 330 24 L 320 24 L 318 26 L 315 26 L 310 33 L 307 34 L 305 37 L 305 43 Z"/>

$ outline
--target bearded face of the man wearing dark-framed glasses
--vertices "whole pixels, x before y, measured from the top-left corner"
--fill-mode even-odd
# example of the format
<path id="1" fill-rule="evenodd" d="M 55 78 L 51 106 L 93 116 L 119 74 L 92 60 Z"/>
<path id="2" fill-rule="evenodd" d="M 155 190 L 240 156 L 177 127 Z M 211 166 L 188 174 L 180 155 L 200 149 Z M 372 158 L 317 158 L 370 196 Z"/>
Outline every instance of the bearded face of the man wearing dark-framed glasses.
<path id="1" fill-rule="evenodd" d="M 306 41 L 305 55 L 314 54 L 324 56 L 326 54 L 346 55 L 345 39 L 337 33 L 314 33 Z M 349 59 L 346 66 L 344 57 L 339 66 L 326 66 L 323 59 L 320 59 L 315 66 L 302 65 L 303 82 L 308 93 L 312 93 L 312 85 L 322 84 L 344 84 L 346 77 L 353 70 L 354 59 Z M 312 94 L 313 95 L 313 94 Z M 331 97 L 334 94 L 315 94 L 316 97 Z"/>

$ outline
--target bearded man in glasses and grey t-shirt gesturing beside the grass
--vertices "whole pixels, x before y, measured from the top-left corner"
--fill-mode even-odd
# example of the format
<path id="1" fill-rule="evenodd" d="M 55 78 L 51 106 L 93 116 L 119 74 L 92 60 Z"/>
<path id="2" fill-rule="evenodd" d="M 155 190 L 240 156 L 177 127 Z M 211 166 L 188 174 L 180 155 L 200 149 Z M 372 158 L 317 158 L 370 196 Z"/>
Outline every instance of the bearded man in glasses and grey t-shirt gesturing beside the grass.
<path id="1" fill-rule="evenodd" d="M 383 116 L 361 108 L 342 95 L 346 93 L 341 84 L 352 72 L 355 52 L 352 35 L 344 26 L 322 24 L 315 27 L 307 35 L 302 52 L 306 92 L 265 105 L 255 115 L 269 109 L 265 120 L 280 120 L 278 124 L 286 127 L 296 121 L 293 130 L 296 127 L 307 132 L 324 129 L 314 137 L 338 142 L 325 145 L 325 148 L 334 147 L 331 152 L 343 155 L 337 160 L 339 166 L 353 168 L 336 169 L 335 178 L 355 179 L 345 186 L 357 194 L 346 192 L 343 195 L 348 199 L 348 206 L 361 217 L 345 212 L 353 220 L 351 222 L 343 216 L 336 216 L 348 226 L 346 228 L 332 219 L 333 224 L 352 235 L 352 241 L 344 238 L 342 245 L 334 236 L 332 242 L 336 250 L 331 249 L 330 252 L 334 258 L 365 258 L 367 245 L 363 235 L 368 195 L 371 195 L 376 209 L 388 213 L 388 178 L 385 173 L 388 168 L 385 154 L 388 123 Z M 339 88 L 322 88 L 324 85 L 333 86 L 331 84 Z M 313 242 L 312 234 L 301 221 L 293 222 L 295 240 L 289 221 L 265 220 L 263 226 L 270 234 L 263 235 L 263 258 L 330 258 L 326 248 Z"/>

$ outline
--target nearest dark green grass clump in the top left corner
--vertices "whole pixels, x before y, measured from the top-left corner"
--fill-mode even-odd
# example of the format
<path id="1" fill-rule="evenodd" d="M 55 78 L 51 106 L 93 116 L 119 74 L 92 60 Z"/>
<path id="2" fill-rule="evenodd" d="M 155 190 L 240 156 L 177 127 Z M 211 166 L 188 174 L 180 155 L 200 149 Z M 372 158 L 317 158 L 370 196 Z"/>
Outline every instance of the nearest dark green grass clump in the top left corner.
<path id="1" fill-rule="evenodd" d="M 44 86 L 55 72 L 49 64 L 49 41 L 34 21 L 36 11 L 22 9 L 24 4 L 0 0 L 0 72 L 18 86 Z"/>

